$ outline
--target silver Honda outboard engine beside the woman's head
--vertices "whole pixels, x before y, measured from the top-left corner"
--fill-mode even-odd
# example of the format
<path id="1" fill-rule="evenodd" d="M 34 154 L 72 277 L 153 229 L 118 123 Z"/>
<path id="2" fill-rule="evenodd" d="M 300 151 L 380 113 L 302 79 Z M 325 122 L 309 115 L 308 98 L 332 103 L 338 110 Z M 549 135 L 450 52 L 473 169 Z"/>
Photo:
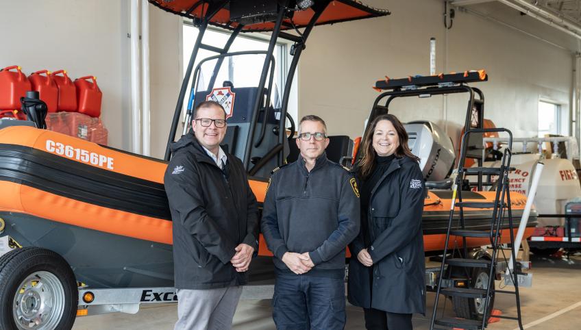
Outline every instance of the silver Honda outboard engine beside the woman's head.
<path id="1" fill-rule="evenodd" d="M 404 125 L 408 132 L 408 146 L 420 158 L 419 167 L 425 181 L 442 181 L 452 173 L 456 155 L 454 145 L 438 125 L 425 120 Z"/>

